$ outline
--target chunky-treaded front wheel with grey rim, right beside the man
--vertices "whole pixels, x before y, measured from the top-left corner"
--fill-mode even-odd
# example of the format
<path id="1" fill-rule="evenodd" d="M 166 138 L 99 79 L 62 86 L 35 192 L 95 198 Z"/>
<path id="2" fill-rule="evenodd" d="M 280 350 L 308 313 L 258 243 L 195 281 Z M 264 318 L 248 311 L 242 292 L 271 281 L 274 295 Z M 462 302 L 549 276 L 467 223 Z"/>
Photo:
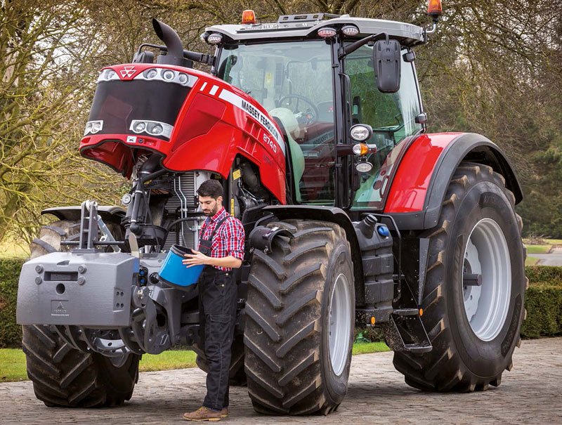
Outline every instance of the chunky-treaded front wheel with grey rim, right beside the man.
<path id="1" fill-rule="evenodd" d="M 270 223 L 273 251 L 255 251 L 246 302 L 245 366 L 254 409 L 328 414 L 347 393 L 355 325 L 351 249 L 324 221 Z"/>

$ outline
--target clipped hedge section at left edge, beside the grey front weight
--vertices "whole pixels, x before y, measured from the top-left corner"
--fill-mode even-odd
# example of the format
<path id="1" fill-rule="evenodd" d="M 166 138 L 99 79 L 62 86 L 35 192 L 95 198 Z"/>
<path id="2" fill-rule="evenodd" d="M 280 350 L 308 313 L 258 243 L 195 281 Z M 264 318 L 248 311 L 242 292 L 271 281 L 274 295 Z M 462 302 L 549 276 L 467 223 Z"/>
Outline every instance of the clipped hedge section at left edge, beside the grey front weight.
<path id="1" fill-rule="evenodd" d="M 20 346 L 22 328 L 15 324 L 18 278 L 24 260 L 0 259 L 0 348 Z"/>

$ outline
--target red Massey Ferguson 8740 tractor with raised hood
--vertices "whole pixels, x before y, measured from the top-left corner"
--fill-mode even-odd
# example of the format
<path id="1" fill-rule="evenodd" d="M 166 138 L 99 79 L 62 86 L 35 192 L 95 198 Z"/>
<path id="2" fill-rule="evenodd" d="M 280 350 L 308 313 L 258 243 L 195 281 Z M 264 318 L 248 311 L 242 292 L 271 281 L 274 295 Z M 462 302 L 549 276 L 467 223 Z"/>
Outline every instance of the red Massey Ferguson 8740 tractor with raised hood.
<path id="1" fill-rule="evenodd" d="M 165 46 L 105 67 L 80 152 L 132 186 L 126 209 L 43 211 L 58 221 L 18 292 L 37 398 L 122 404 L 141 355 L 178 345 L 205 370 L 196 285 L 158 272 L 172 245 L 195 246 L 208 178 L 247 234 L 230 379 L 256 411 L 335 410 L 355 326 L 382 329 L 410 386 L 499 385 L 525 314 L 521 188 L 484 136 L 426 133 L 413 48 L 439 12 L 429 29 L 248 12 L 202 34 L 214 55 L 154 20 Z"/>

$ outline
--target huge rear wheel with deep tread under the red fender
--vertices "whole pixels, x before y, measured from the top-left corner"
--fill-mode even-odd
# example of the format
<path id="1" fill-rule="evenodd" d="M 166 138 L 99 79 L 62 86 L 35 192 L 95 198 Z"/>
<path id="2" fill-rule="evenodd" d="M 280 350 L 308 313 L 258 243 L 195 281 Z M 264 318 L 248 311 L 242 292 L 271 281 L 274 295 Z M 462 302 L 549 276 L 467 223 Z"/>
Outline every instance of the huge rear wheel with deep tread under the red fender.
<path id="1" fill-rule="evenodd" d="M 414 388 L 483 391 L 498 386 L 521 339 L 524 249 L 515 197 L 489 166 L 462 163 L 429 238 L 421 320 L 433 350 L 395 353 Z M 481 285 L 476 276 L 481 275 Z"/>

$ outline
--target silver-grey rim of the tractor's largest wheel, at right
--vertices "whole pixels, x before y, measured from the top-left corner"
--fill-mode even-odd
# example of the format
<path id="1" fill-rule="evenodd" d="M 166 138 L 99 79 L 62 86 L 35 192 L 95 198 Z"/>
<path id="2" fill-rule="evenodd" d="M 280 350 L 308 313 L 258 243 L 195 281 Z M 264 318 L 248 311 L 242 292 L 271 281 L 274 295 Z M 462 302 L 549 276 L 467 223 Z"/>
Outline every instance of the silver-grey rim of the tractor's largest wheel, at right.
<path id="1" fill-rule="evenodd" d="M 464 312 L 474 334 L 491 341 L 502 330 L 511 296 L 511 258 L 502 228 L 491 218 L 478 221 L 464 250 Z M 467 274 L 481 275 L 470 285 Z"/>

